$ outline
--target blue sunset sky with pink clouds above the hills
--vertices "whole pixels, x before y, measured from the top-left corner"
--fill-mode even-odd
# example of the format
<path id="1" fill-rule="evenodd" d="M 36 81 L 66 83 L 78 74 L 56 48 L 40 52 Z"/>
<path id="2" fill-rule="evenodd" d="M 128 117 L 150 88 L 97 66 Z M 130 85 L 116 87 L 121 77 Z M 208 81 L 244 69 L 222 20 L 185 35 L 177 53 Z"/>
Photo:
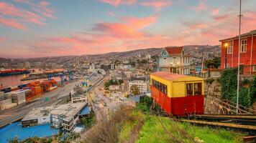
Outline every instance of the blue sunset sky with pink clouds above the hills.
<path id="1" fill-rule="evenodd" d="M 242 33 L 255 7 L 242 0 Z M 0 0 L 0 57 L 217 45 L 238 34 L 238 14 L 239 0 Z"/>

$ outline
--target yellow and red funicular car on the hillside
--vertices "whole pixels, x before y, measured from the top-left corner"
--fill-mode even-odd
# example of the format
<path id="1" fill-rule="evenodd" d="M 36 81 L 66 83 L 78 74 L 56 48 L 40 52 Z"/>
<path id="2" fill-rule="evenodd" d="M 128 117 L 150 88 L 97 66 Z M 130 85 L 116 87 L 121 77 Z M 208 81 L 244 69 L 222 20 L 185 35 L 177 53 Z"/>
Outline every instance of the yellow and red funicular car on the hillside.
<path id="1" fill-rule="evenodd" d="M 150 74 L 152 99 L 167 114 L 204 114 L 204 79 L 158 71 Z"/>

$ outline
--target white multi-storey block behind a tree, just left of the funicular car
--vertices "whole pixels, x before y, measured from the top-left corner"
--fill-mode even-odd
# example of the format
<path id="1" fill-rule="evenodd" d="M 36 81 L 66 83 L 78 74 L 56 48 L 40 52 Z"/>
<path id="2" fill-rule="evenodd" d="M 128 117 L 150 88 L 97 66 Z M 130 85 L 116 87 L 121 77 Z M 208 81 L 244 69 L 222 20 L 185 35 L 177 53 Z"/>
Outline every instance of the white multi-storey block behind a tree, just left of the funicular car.
<path id="1" fill-rule="evenodd" d="M 128 81 L 128 92 L 132 94 L 131 87 L 132 85 L 136 85 L 140 91 L 140 94 L 146 94 L 148 90 L 149 82 L 145 78 L 134 78 Z"/>

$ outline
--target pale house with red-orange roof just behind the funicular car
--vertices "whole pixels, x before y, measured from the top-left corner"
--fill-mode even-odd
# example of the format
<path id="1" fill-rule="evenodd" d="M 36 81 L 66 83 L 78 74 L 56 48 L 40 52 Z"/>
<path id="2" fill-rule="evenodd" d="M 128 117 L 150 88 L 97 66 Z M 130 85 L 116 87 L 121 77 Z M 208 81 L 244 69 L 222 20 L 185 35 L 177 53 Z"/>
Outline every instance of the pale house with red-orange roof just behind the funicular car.
<path id="1" fill-rule="evenodd" d="M 183 46 L 165 47 L 157 60 L 157 71 L 190 74 L 190 58 Z"/>

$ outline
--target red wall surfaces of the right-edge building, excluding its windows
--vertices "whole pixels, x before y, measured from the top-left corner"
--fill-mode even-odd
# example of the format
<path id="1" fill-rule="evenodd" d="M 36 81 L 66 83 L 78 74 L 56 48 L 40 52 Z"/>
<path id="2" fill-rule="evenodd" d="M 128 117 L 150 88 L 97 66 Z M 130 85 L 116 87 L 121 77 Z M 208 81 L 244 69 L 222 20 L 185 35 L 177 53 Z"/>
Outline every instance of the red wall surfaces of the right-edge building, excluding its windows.
<path id="1" fill-rule="evenodd" d="M 243 38 L 242 38 L 243 39 Z M 256 64 L 256 36 L 253 37 L 253 43 L 252 43 L 252 36 L 249 36 L 247 38 L 247 52 L 246 53 L 240 53 L 240 64 L 243 64 L 244 66 L 250 66 L 250 57 L 251 57 L 251 47 L 252 47 L 252 64 Z M 224 49 L 224 44 L 227 41 L 222 41 L 221 43 L 221 69 L 224 69 L 225 65 L 225 57 L 226 57 L 226 49 Z M 238 47 L 239 47 L 239 40 L 234 40 L 234 46 L 233 46 L 233 66 L 232 66 L 232 54 L 227 54 L 227 64 L 229 64 L 229 67 L 237 67 L 238 64 Z M 247 74 L 249 72 L 249 68 L 244 68 L 244 74 Z"/>

